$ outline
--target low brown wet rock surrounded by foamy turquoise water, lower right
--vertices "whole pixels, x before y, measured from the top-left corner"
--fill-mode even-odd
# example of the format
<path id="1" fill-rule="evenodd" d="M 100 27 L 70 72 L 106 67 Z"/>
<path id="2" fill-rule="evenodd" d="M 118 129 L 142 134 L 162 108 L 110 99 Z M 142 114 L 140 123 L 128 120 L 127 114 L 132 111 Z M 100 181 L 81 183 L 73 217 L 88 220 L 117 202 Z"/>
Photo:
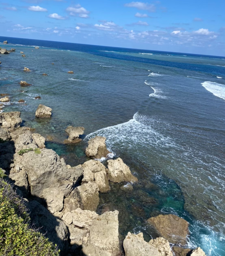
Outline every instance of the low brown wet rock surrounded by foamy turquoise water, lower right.
<path id="1" fill-rule="evenodd" d="M 184 245 L 189 234 L 189 223 L 173 214 L 158 215 L 151 217 L 148 222 L 155 227 L 160 236 L 167 239 L 170 243 Z"/>

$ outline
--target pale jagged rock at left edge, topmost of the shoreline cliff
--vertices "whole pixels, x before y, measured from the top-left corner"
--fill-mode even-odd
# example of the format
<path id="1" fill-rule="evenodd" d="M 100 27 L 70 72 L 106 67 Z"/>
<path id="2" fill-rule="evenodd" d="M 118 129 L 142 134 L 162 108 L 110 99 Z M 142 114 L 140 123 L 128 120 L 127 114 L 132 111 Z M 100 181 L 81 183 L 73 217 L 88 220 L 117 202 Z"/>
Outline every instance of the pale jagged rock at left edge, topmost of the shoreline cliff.
<path id="1" fill-rule="evenodd" d="M 22 123 L 22 119 L 20 118 L 19 111 L 13 112 L 3 112 L 0 114 L 0 124 L 2 127 L 6 127 L 9 129 L 16 129 Z"/>

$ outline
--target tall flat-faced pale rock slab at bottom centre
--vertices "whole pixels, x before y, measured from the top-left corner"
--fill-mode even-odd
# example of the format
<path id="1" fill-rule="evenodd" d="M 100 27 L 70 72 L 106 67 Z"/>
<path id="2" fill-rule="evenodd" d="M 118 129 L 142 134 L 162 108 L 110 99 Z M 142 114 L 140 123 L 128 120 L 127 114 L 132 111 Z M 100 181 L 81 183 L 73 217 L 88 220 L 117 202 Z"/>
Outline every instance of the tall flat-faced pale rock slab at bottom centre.
<path id="1" fill-rule="evenodd" d="M 90 256 L 115 256 L 119 249 L 118 211 L 105 212 L 96 217 L 90 227 L 87 247 L 82 252 Z"/>

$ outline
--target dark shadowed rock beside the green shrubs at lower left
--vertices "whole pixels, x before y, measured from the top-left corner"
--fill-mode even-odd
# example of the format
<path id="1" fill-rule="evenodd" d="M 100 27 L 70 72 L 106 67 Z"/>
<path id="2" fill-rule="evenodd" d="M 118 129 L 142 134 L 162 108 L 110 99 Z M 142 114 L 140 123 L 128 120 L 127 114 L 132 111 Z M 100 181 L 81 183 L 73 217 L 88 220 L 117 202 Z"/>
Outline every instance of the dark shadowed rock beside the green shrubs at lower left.
<path id="1" fill-rule="evenodd" d="M 28 208 L 31 211 L 31 223 L 40 227 L 39 232 L 45 234 L 53 244 L 57 244 L 62 252 L 61 255 L 65 255 L 68 249 L 68 231 L 65 223 L 52 216 L 47 209 L 35 200 L 28 203 Z"/>

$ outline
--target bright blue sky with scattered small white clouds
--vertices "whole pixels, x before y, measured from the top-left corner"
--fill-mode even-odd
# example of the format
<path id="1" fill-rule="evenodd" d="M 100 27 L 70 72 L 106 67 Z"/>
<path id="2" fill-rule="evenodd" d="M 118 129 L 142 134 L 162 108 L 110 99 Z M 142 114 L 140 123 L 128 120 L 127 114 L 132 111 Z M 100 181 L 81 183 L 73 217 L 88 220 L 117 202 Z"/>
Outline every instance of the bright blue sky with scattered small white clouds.
<path id="1" fill-rule="evenodd" d="M 224 0 L 0 0 L 1 36 L 225 56 Z"/>

